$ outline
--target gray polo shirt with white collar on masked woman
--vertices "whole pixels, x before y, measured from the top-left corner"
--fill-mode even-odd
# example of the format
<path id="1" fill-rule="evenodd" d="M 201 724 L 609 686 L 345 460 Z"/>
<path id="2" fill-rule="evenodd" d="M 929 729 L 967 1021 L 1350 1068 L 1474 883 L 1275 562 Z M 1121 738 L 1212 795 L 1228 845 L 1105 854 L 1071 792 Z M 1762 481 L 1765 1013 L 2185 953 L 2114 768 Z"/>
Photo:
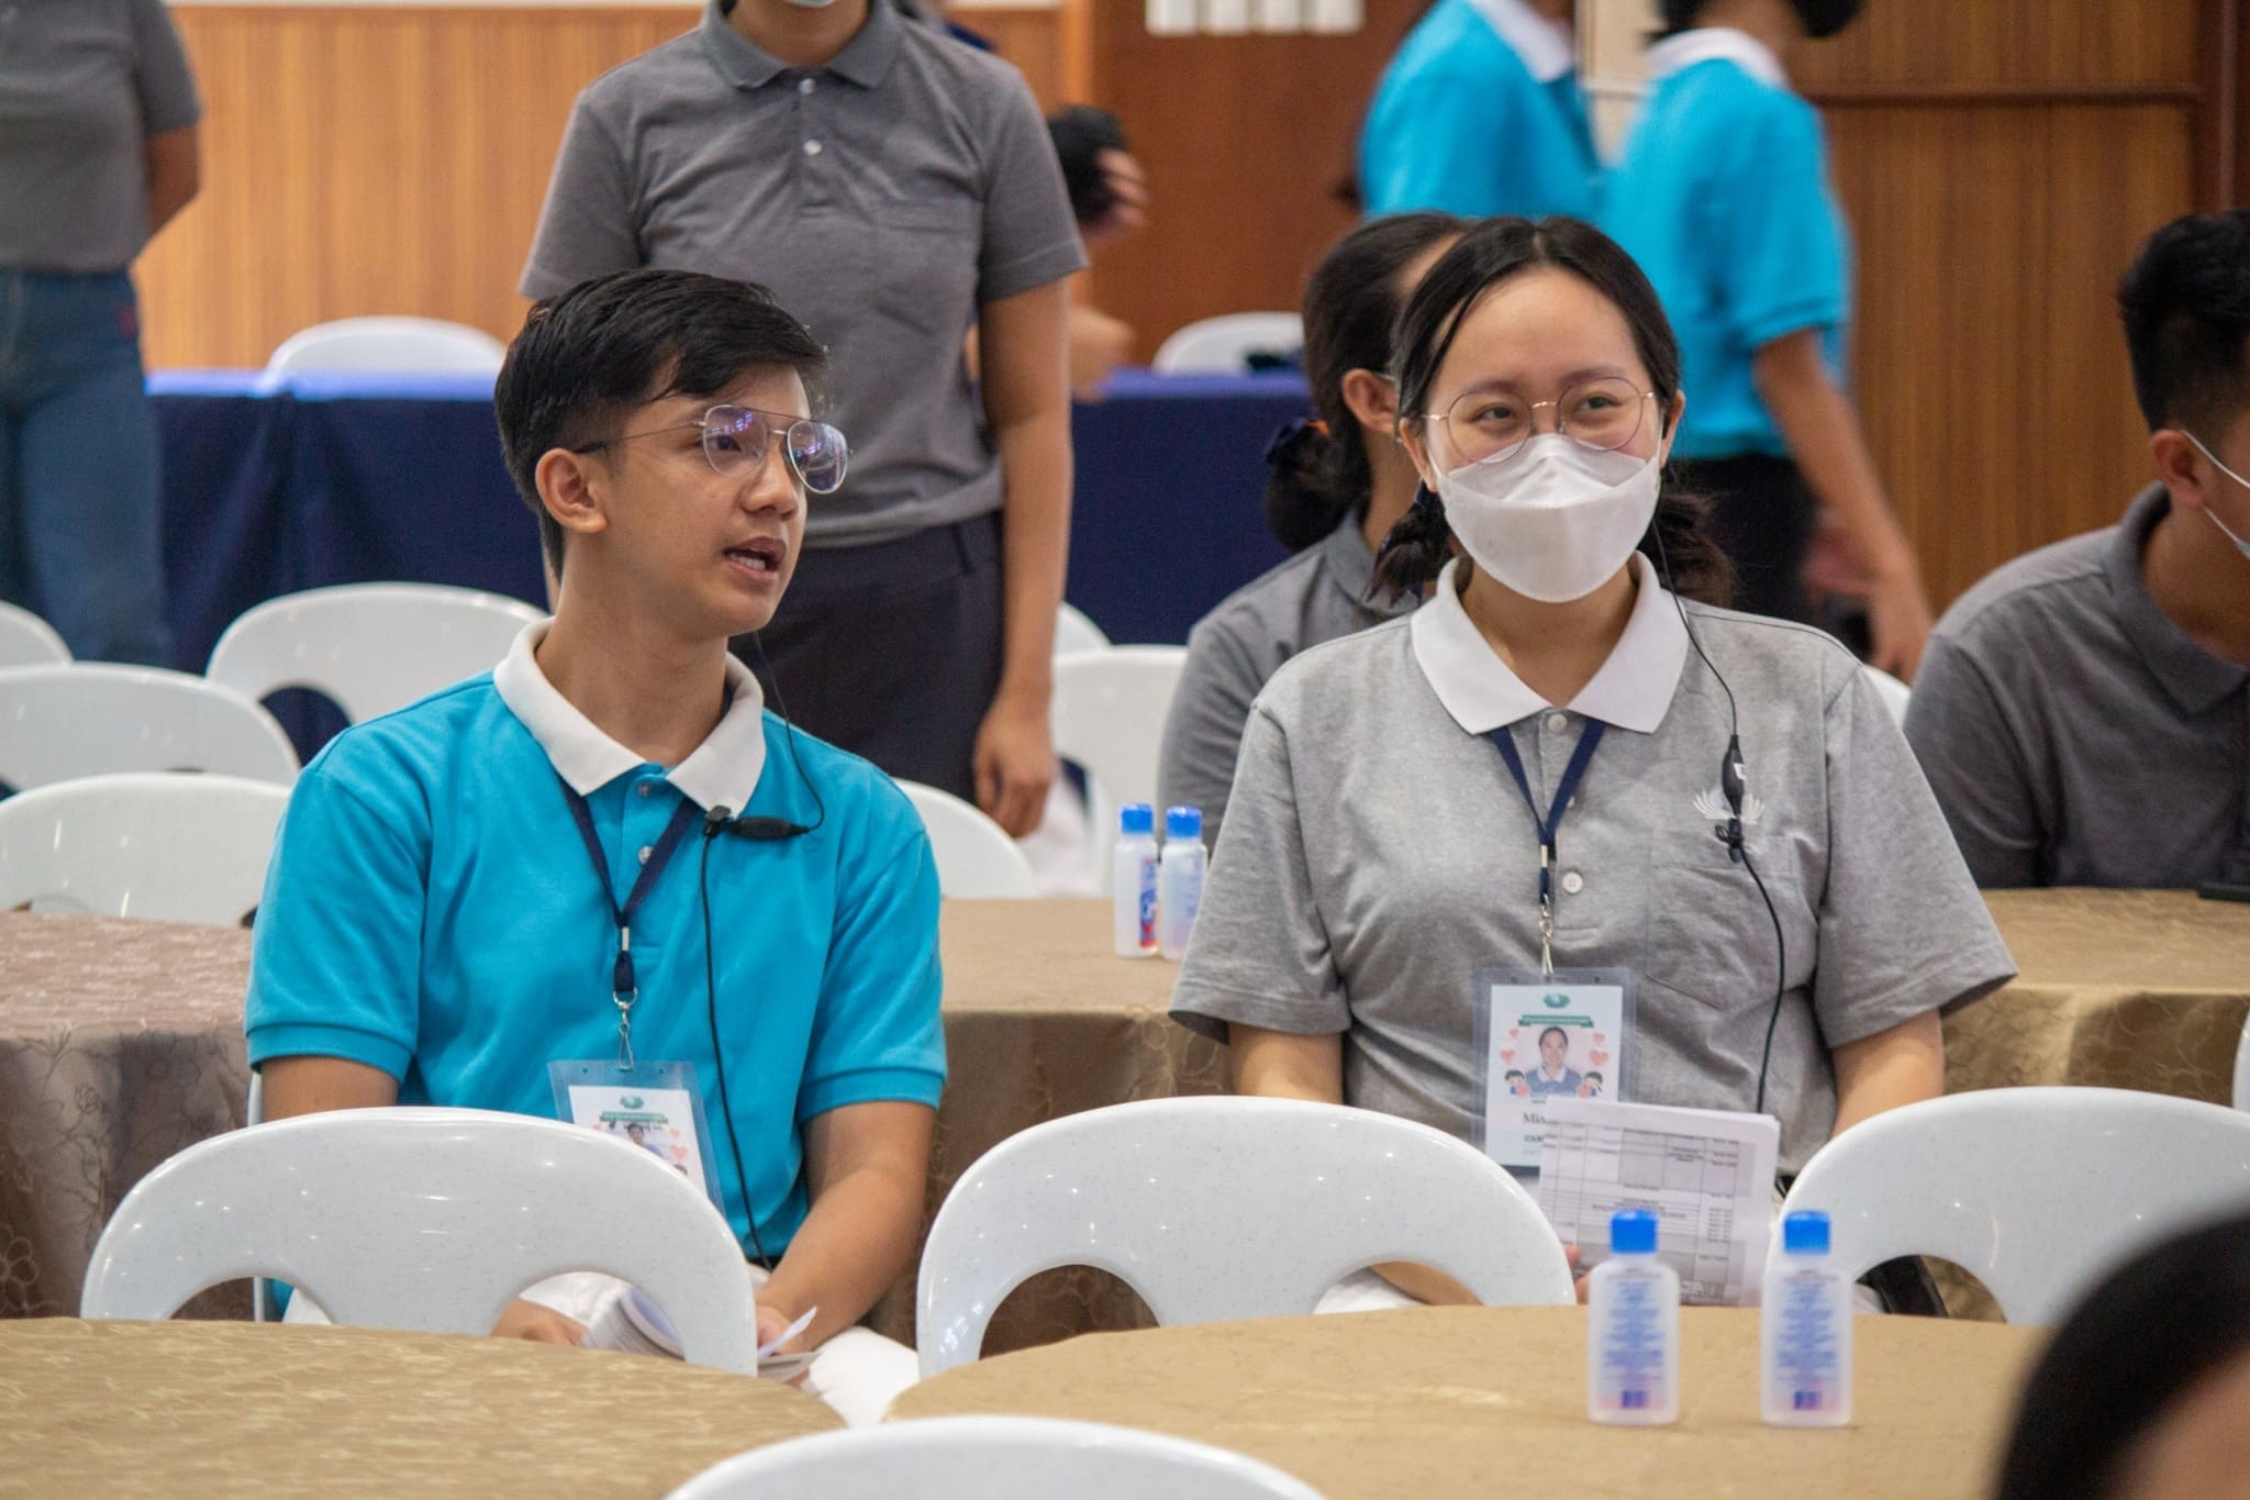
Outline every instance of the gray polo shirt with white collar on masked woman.
<path id="1" fill-rule="evenodd" d="M 1564 708 L 1485 645 L 1456 567 L 1413 616 L 1285 666 L 1242 738 L 1172 1014 L 1343 1032 L 1348 1102 L 1469 1138 L 1472 976 L 1539 963 L 1539 834 L 1485 733 L 1508 726 L 1546 807 L 1598 717 L 1557 837 L 1555 965 L 1640 974 L 1640 1102 L 1750 1109 L 1778 969 L 1766 906 L 1712 832 L 1726 695 L 1634 567 L 1631 623 Z M 1836 1122 L 1832 1048 L 2014 965 L 1858 663 L 1802 625 L 1688 609 L 1742 704 L 1748 850 L 1789 938 L 1766 1109 L 1796 1169 Z"/>

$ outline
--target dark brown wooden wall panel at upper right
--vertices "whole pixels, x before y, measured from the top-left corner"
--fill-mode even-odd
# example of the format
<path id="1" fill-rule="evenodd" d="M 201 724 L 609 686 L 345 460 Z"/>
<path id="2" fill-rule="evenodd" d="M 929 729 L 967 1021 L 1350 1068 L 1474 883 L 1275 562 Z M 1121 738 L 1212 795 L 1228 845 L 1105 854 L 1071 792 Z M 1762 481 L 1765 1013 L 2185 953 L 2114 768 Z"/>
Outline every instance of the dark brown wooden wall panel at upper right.
<path id="1" fill-rule="evenodd" d="M 1888 0 L 1793 61 L 1856 241 L 1852 378 L 1940 607 L 2149 475 L 2113 292 L 2207 198 L 2212 0 Z"/>

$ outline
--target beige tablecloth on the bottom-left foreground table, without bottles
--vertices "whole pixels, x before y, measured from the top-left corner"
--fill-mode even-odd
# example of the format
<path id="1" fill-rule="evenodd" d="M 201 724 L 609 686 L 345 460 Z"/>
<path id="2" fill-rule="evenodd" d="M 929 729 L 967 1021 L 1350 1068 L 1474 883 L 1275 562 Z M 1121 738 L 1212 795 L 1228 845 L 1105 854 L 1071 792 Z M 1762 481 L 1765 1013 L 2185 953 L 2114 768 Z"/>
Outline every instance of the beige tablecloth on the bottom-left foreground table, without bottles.
<path id="1" fill-rule="evenodd" d="M 0 1496 L 664 1496 L 842 1426 L 718 1370 L 500 1338 L 0 1322 Z"/>

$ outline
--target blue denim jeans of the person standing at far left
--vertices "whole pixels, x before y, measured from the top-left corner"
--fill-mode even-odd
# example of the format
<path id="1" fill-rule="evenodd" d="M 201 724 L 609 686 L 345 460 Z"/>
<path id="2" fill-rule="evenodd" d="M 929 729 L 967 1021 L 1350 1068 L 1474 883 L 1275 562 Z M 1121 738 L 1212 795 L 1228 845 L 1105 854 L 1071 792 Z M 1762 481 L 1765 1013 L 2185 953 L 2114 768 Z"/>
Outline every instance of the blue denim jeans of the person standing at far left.
<path id="1" fill-rule="evenodd" d="M 171 666 L 133 279 L 0 268 L 0 598 L 83 661 Z"/>

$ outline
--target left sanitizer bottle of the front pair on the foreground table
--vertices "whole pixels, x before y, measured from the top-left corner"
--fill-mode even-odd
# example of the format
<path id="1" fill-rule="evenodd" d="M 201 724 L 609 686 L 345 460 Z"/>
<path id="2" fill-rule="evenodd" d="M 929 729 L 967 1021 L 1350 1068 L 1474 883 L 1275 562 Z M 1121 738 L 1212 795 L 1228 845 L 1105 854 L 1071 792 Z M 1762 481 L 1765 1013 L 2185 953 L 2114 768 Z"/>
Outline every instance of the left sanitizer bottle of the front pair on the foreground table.
<path id="1" fill-rule="evenodd" d="M 1586 1415 L 1663 1426 L 1681 1415 L 1681 1277 L 1656 1259 L 1656 1214 L 1609 1219 L 1609 1259 L 1586 1277 Z"/>

